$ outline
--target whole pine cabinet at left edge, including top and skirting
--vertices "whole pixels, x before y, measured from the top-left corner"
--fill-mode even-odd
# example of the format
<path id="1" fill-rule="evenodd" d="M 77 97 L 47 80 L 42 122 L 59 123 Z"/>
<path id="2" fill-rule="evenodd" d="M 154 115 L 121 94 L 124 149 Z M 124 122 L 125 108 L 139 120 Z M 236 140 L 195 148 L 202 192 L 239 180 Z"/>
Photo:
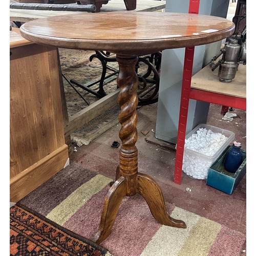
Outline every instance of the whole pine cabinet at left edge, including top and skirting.
<path id="1" fill-rule="evenodd" d="M 10 202 L 25 197 L 69 159 L 57 49 L 31 44 L 18 30 L 10 31 Z"/>

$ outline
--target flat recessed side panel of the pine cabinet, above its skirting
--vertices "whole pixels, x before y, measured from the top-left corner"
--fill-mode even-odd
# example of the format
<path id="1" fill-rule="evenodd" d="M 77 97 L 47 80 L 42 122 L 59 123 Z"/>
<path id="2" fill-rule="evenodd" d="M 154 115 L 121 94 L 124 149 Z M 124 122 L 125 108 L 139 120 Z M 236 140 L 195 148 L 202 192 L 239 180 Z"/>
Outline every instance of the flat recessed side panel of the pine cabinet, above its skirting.
<path id="1" fill-rule="evenodd" d="M 56 49 L 32 44 L 11 52 L 10 178 L 65 144 Z"/>

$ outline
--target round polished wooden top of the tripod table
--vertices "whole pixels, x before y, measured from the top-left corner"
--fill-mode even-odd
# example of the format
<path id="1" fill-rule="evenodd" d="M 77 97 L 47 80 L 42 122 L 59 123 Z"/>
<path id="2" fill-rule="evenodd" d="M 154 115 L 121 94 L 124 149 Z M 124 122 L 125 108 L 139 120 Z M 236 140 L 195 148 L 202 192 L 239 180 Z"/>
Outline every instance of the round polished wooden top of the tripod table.
<path id="1" fill-rule="evenodd" d="M 22 36 L 37 44 L 126 55 L 205 45 L 233 31 L 230 20 L 216 16 L 127 11 L 54 16 L 20 27 Z"/>

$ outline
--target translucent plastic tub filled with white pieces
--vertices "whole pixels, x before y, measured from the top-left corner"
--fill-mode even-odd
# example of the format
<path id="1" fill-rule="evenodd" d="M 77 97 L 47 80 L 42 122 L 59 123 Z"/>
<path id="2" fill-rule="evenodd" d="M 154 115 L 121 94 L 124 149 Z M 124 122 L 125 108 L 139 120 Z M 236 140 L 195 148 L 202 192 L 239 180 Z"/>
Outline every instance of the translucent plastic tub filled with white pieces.
<path id="1" fill-rule="evenodd" d="M 205 135 L 204 138 L 204 135 L 202 134 L 204 134 L 205 132 L 207 132 L 208 134 Z M 197 138 L 199 137 L 199 135 L 201 138 Z M 220 138 L 219 142 L 209 142 L 214 140 L 212 138 L 209 139 L 209 135 L 214 138 Z M 197 139 L 201 139 L 201 141 L 196 143 L 197 145 L 195 147 L 197 148 L 193 148 L 193 150 L 186 148 L 189 147 L 189 141 L 194 141 L 193 143 L 195 144 L 195 141 Z M 207 140 L 208 142 L 206 143 L 204 140 Z M 193 131 L 186 135 L 182 164 L 183 172 L 191 178 L 206 180 L 209 172 L 209 167 L 211 166 L 211 164 L 215 162 L 215 160 L 221 155 L 225 148 L 231 142 L 233 142 L 233 140 L 233 132 L 212 125 L 199 124 Z M 191 147 L 193 147 L 193 145 Z M 211 149 L 208 150 L 208 148 L 206 147 L 210 147 Z M 200 151 L 208 151 L 208 153 L 200 153 Z"/>

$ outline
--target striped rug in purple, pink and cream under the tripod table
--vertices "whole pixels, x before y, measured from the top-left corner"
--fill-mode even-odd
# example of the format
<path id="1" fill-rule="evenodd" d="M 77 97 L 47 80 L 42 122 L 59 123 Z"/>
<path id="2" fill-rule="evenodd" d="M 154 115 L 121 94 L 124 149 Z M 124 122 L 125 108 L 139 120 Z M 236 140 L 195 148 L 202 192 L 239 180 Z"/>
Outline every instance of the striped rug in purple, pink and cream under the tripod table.
<path id="1" fill-rule="evenodd" d="M 92 239 L 112 179 L 72 163 L 19 202 Z M 245 234 L 166 202 L 187 228 L 160 225 L 140 196 L 125 197 L 110 236 L 101 243 L 114 256 L 239 256 Z M 245 254 L 244 254 L 245 255 Z"/>

